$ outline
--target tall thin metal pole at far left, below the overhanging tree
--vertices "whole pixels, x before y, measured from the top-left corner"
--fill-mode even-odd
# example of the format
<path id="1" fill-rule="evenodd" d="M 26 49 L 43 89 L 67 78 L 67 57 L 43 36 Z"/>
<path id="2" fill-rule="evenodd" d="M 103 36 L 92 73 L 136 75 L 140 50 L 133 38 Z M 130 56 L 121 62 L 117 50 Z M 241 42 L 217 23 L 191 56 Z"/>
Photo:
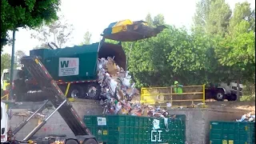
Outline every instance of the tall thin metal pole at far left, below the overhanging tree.
<path id="1" fill-rule="evenodd" d="M 13 43 L 11 48 L 11 59 L 10 59 L 10 99 L 13 99 L 13 80 L 14 80 L 14 46 L 15 46 L 15 31 L 13 30 Z"/>

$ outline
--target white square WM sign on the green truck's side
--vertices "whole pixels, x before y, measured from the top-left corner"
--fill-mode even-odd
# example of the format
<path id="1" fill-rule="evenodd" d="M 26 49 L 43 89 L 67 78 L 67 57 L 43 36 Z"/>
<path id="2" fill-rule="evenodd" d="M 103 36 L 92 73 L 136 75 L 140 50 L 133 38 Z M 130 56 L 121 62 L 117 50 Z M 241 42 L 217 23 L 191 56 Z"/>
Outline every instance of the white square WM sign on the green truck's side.
<path id="1" fill-rule="evenodd" d="M 71 76 L 79 74 L 79 58 L 59 58 L 58 76 Z"/>

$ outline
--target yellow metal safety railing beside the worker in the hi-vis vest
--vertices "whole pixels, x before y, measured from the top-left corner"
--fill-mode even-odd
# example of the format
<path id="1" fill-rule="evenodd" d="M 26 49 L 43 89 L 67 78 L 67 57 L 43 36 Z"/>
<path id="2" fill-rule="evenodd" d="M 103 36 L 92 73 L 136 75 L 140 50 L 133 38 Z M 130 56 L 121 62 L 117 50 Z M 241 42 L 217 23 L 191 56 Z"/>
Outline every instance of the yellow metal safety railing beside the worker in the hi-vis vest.
<path id="1" fill-rule="evenodd" d="M 174 87 L 142 87 L 140 102 L 148 105 L 159 103 L 162 107 L 205 106 L 205 85 L 182 86 L 182 93 L 174 93 Z M 168 106 L 169 104 L 169 106 Z"/>

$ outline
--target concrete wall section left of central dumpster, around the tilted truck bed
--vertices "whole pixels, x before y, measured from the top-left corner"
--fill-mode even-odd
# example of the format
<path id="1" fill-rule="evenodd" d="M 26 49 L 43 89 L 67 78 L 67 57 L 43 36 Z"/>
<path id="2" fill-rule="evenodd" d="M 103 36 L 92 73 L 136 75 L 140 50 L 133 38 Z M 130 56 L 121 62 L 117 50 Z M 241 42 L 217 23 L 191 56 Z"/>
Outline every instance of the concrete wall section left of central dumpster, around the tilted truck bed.
<path id="1" fill-rule="evenodd" d="M 99 105 L 97 101 L 93 100 L 78 100 L 71 102 L 74 109 L 77 110 L 80 118 L 83 119 L 84 115 L 98 115 L 102 114 L 102 106 Z M 17 111 L 17 110 L 16 110 Z M 22 111 L 22 110 L 20 110 Z M 53 110 L 44 110 L 44 114 L 50 114 Z M 18 126 L 20 122 L 26 120 L 27 117 L 24 116 L 13 116 L 10 120 L 10 126 L 14 129 L 15 126 Z M 35 126 L 40 122 L 40 118 L 32 118 L 30 122 L 16 134 L 16 139 L 20 140 L 26 137 L 30 133 L 30 130 L 33 130 Z M 38 130 L 38 133 L 35 134 L 35 137 L 42 137 L 48 134 L 66 134 L 67 136 L 74 136 L 70 127 L 66 125 L 66 122 L 62 119 L 60 114 L 56 112 L 46 123 L 42 126 L 41 130 Z"/>

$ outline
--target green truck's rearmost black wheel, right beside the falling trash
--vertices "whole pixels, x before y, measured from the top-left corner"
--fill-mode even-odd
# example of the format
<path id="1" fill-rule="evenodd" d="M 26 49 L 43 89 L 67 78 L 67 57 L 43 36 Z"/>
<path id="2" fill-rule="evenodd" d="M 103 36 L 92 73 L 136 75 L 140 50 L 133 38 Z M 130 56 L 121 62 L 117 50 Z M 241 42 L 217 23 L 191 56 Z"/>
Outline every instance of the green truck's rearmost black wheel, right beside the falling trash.
<path id="1" fill-rule="evenodd" d="M 90 83 L 86 86 L 85 98 L 99 100 L 101 95 L 101 86 L 98 83 Z"/>

